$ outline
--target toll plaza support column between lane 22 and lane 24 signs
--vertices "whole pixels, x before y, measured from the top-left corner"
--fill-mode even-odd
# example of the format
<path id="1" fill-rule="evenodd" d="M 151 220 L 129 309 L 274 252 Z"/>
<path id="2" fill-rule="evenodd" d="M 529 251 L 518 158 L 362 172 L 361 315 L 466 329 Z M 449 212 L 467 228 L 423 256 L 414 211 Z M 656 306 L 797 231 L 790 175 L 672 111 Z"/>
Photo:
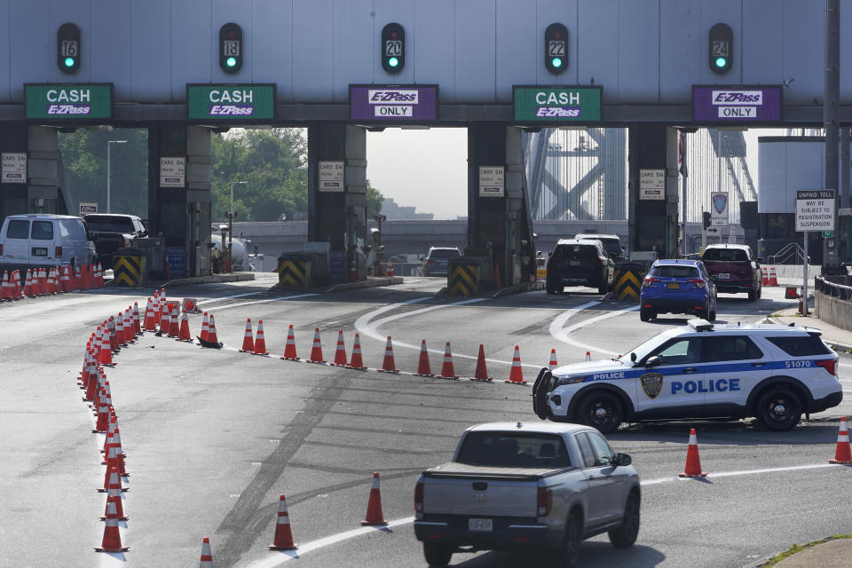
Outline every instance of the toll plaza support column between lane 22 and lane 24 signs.
<path id="1" fill-rule="evenodd" d="M 628 230 L 631 251 L 677 254 L 677 130 L 657 124 L 629 129 Z M 639 199 L 639 170 L 666 170 L 666 200 Z"/>

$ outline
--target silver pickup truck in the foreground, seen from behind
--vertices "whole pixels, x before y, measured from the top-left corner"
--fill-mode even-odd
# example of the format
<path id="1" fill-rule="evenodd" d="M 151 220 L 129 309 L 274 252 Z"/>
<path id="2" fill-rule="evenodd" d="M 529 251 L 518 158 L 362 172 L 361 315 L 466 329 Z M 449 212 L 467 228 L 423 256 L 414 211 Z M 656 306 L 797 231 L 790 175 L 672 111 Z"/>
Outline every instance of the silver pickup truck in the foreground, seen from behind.
<path id="1" fill-rule="evenodd" d="M 492 422 L 461 435 L 453 461 L 426 469 L 414 489 L 414 534 L 430 566 L 454 552 L 545 548 L 574 566 L 580 541 L 639 533 L 639 477 L 600 432 L 567 423 Z"/>

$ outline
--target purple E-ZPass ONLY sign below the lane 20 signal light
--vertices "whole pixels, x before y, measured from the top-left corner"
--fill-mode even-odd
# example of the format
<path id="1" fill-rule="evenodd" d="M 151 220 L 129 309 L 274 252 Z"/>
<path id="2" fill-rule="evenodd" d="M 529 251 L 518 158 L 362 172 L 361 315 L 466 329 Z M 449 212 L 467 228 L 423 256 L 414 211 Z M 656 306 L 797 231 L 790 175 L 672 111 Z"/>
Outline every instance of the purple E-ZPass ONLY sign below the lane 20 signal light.
<path id="1" fill-rule="evenodd" d="M 438 120 L 438 85 L 349 85 L 349 117 L 362 122 Z"/>

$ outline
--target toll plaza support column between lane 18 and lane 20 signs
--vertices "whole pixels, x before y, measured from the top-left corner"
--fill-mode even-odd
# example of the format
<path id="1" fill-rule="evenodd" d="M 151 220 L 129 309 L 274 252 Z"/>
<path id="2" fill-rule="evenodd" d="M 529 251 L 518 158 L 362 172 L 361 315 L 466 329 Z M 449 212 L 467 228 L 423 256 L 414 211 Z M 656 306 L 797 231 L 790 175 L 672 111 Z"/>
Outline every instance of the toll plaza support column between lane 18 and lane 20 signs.
<path id="1" fill-rule="evenodd" d="M 343 162 L 343 187 L 320 187 L 319 162 Z M 308 127 L 308 241 L 329 243 L 332 259 L 343 255 L 344 275 L 352 261 L 367 274 L 367 130 L 345 122 Z M 316 274 L 316 272 L 314 272 Z M 340 280 L 340 274 L 331 274 Z"/>

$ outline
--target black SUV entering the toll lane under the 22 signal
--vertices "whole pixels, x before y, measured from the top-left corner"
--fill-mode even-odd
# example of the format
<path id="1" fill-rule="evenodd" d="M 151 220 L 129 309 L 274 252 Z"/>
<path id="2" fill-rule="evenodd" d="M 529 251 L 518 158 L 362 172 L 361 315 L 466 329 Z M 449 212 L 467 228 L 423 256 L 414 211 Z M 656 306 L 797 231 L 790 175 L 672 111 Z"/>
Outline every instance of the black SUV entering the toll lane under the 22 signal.
<path id="1" fill-rule="evenodd" d="M 548 258 L 548 294 L 566 286 L 589 286 L 606 294 L 612 286 L 615 263 L 599 240 L 560 239 Z"/>

